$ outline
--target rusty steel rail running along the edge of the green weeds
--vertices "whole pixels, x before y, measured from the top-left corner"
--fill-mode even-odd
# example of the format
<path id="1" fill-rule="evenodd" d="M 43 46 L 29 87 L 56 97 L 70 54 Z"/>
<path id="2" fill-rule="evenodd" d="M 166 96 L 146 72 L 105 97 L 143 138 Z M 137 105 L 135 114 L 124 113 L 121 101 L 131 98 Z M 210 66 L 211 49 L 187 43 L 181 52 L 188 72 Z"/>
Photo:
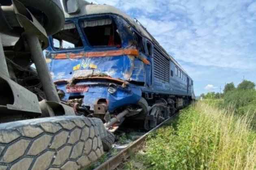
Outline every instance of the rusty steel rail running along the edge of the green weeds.
<path id="1" fill-rule="evenodd" d="M 156 126 L 154 129 L 150 130 L 149 132 L 147 132 L 146 134 L 144 134 L 143 136 L 141 136 L 140 138 L 138 138 L 137 140 L 135 140 L 134 142 L 129 144 L 128 147 L 126 147 L 125 149 L 123 149 L 119 153 L 117 153 L 116 155 L 112 156 L 111 158 L 109 158 L 108 160 L 103 162 L 100 166 L 98 166 L 94 170 L 114 170 L 115 168 L 117 168 L 120 164 L 123 163 L 124 160 L 126 160 L 126 159 L 128 159 L 128 157 L 130 157 L 130 150 L 137 150 L 137 149 L 141 148 L 142 144 L 146 140 L 146 137 L 150 133 L 154 132 L 156 129 L 161 127 L 165 122 L 170 120 L 175 115 L 172 115 L 171 117 L 169 117 L 169 119 L 166 119 L 165 121 L 160 123 L 158 126 Z"/>

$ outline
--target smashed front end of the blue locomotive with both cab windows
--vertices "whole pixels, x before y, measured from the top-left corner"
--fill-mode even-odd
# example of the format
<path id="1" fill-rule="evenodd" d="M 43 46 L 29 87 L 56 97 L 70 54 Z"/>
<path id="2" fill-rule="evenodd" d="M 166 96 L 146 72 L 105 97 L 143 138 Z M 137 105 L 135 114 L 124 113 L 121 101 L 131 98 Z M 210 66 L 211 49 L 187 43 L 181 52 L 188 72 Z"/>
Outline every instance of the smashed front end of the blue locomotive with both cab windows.
<path id="1" fill-rule="evenodd" d="M 146 60 L 125 19 L 113 14 L 70 17 L 49 40 L 46 60 L 52 79 L 61 100 L 77 115 L 100 118 L 113 132 L 125 117 L 143 113 L 137 85 L 145 83 Z"/>

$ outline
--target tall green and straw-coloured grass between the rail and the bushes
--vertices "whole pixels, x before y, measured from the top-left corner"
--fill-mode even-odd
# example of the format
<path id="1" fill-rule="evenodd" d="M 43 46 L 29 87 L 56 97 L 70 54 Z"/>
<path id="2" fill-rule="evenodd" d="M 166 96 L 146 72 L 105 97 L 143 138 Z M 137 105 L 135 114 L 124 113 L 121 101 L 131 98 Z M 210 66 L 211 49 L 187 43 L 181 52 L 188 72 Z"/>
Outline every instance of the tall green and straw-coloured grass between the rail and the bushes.
<path id="1" fill-rule="evenodd" d="M 197 102 L 149 136 L 125 169 L 255 169 L 256 133 L 249 124 L 230 108 Z"/>

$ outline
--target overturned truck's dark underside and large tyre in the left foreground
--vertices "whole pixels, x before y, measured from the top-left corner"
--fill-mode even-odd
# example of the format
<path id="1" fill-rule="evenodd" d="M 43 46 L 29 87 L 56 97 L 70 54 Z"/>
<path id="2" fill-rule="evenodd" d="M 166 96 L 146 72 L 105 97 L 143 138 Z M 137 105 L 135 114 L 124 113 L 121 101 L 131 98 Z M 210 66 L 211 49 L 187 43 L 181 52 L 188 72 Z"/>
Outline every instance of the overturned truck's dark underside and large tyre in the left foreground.
<path id="1" fill-rule="evenodd" d="M 59 0 L 0 0 L 1 170 L 80 169 L 103 153 L 102 121 L 60 100 L 43 56 L 64 23 Z"/>

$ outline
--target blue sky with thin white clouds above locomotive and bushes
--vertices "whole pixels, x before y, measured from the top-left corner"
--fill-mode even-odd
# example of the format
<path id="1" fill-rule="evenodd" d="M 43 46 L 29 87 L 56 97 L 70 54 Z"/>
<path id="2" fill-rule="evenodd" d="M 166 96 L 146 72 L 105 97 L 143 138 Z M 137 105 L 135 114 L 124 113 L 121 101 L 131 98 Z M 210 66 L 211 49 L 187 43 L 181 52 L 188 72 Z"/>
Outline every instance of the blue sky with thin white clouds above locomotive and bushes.
<path id="1" fill-rule="evenodd" d="M 194 81 L 195 95 L 256 82 L 256 0 L 91 0 L 138 19 Z"/>

